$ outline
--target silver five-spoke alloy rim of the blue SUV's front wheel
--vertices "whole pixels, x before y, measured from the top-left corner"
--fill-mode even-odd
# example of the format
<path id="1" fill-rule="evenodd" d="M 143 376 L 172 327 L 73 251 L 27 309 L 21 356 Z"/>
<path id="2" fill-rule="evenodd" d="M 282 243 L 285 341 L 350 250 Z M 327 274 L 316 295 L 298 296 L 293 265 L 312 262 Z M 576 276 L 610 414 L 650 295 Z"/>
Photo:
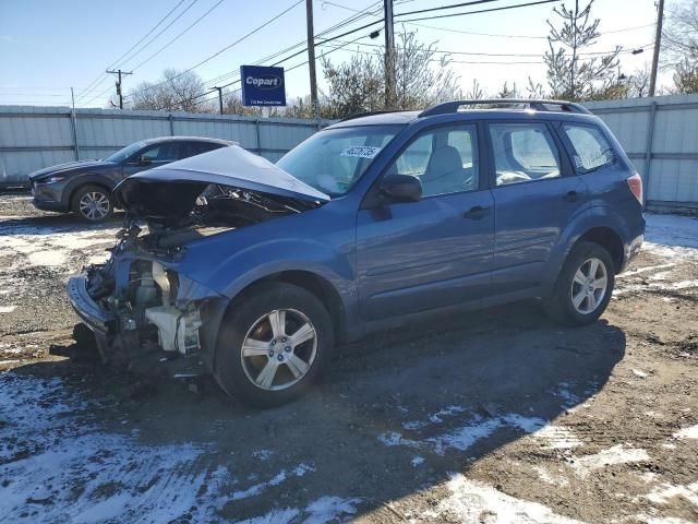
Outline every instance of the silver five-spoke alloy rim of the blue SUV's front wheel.
<path id="1" fill-rule="evenodd" d="M 308 317 L 278 309 L 248 331 L 240 357 L 248 380 L 262 390 L 278 391 L 305 377 L 316 353 L 317 332 Z"/>

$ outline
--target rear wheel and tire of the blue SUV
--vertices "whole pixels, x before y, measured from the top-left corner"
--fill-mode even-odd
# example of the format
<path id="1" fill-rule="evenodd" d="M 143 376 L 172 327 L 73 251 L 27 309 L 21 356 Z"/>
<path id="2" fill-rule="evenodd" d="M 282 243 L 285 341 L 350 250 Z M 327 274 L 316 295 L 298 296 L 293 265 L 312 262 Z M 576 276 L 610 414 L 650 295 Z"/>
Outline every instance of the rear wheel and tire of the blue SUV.
<path id="1" fill-rule="evenodd" d="M 579 242 L 567 255 L 550 295 L 543 297 L 543 308 L 563 324 L 591 324 L 609 306 L 614 284 L 609 251 L 598 243 Z"/>

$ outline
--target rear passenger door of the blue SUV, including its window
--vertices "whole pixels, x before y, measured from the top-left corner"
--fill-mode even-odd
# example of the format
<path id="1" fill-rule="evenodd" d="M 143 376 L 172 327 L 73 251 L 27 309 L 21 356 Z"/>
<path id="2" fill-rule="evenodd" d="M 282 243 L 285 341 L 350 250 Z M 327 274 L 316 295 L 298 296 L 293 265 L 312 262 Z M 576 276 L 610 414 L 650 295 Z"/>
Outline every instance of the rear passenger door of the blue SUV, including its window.
<path id="1" fill-rule="evenodd" d="M 492 146 L 495 294 L 538 287 L 565 225 L 588 200 L 559 138 L 545 121 L 488 124 Z"/>

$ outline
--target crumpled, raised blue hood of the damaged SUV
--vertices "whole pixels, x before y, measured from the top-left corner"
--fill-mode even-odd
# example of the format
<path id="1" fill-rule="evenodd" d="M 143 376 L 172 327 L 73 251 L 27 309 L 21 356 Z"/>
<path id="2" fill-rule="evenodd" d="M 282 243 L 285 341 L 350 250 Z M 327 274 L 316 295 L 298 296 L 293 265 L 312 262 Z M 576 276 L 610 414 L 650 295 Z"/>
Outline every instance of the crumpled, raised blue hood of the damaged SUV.
<path id="1" fill-rule="evenodd" d="M 327 194 L 238 145 L 133 175 L 117 186 L 113 194 L 117 205 L 127 211 L 146 217 L 176 217 L 189 214 L 209 184 L 309 203 L 329 201 Z"/>

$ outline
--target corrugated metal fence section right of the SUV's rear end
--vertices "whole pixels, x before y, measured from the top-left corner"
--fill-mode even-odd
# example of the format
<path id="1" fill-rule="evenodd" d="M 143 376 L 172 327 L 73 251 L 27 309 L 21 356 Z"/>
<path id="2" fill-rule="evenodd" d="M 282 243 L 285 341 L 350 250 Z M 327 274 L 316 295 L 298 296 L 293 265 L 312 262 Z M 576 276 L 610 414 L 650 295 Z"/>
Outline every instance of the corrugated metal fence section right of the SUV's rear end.
<path id="1" fill-rule="evenodd" d="M 642 176 L 649 209 L 698 211 L 698 95 L 585 104 Z"/>

